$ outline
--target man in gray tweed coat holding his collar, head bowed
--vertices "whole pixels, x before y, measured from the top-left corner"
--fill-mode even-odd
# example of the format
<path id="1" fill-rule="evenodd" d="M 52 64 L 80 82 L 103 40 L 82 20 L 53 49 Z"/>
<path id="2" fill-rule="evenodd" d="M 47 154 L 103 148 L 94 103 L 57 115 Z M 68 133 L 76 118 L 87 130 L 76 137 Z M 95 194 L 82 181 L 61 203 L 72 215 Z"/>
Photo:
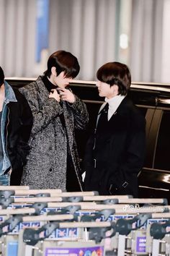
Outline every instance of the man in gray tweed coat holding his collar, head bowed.
<path id="1" fill-rule="evenodd" d="M 49 57 L 44 75 L 19 89 L 34 119 L 22 185 L 63 191 L 83 189 L 74 132 L 85 129 L 89 116 L 84 102 L 68 88 L 79 69 L 75 56 L 56 51 Z"/>

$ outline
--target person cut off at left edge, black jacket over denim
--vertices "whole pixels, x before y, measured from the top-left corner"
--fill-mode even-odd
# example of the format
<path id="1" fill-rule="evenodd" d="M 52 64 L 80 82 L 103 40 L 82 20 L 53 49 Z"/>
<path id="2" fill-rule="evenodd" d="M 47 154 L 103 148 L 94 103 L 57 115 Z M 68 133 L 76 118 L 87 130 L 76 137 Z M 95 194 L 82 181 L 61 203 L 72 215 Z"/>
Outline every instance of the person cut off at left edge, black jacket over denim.
<path id="1" fill-rule="evenodd" d="M 17 89 L 4 80 L 0 67 L 0 182 L 19 185 L 22 167 L 30 150 L 32 112 Z"/>

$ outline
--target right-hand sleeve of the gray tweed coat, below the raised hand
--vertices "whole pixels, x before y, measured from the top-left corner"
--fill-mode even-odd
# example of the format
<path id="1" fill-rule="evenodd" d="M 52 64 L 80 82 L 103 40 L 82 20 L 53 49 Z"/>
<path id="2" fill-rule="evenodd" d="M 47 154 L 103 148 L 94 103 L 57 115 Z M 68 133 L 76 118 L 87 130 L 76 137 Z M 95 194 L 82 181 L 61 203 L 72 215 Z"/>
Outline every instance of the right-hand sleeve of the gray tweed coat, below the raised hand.
<path id="1" fill-rule="evenodd" d="M 85 129 L 89 122 L 89 114 L 86 109 L 86 104 L 76 95 L 75 97 L 76 101 L 72 105 L 68 104 L 73 110 L 74 126 L 75 129 Z"/>

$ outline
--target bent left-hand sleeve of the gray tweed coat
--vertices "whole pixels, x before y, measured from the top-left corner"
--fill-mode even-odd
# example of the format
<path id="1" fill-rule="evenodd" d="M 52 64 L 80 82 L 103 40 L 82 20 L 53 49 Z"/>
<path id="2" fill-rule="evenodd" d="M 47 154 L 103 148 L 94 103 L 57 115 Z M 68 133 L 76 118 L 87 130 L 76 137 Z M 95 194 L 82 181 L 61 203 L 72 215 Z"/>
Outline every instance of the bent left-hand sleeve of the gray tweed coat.
<path id="1" fill-rule="evenodd" d="M 32 135 L 35 135 L 37 132 L 45 129 L 45 127 L 47 127 L 56 116 L 63 113 L 63 108 L 61 108 L 60 104 L 54 98 L 48 98 L 48 100 L 42 105 L 42 108 L 39 108 L 36 90 L 21 88 L 19 91 L 27 99 L 32 111 Z"/>

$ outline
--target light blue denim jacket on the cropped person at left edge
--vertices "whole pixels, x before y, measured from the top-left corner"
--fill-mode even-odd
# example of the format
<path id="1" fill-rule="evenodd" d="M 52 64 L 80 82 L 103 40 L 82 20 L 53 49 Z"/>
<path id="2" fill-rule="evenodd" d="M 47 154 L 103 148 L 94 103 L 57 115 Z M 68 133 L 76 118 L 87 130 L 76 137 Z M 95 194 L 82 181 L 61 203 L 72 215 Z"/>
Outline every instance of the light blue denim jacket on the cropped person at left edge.
<path id="1" fill-rule="evenodd" d="M 9 118 L 9 114 L 7 114 L 7 104 L 9 102 L 17 102 L 17 98 L 15 97 L 14 94 L 14 90 L 12 90 L 12 87 L 6 82 L 4 81 L 4 86 L 5 86 L 5 100 L 4 100 L 4 105 L 2 108 L 2 114 L 1 114 L 1 142 L 2 142 L 2 149 L 3 149 L 3 153 L 4 153 L 4 158 L 3 160 L 0 162 L 0 175 L 4 174 L 4 172 L 6 171 L 6 169 L 8 169 L 11 166 L 11 163 L 9 161 L 9 156 L 7 153 L 7 141 L 6 141 L 6 137 L 5 137 L 5 125 L 6 125 L 6 119 Z M 9 121 L 7 121 L 7 125 L 9 124 Z M 6 134 L 7 136 L 7 134 Z"/>

